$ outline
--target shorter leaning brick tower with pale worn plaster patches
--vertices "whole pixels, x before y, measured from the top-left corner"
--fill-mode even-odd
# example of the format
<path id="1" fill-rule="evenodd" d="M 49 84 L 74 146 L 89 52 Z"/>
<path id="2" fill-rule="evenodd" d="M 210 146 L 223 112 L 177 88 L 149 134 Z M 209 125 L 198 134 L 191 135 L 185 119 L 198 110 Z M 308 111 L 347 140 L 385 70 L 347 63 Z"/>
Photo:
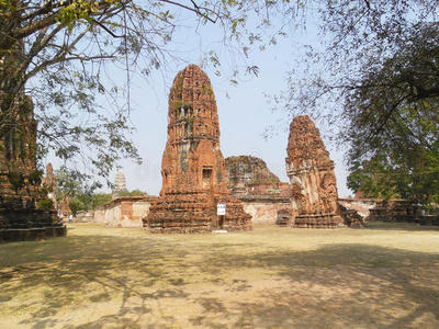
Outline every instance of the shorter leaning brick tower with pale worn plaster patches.
<path id="1" fill-rule="evenodd" d="M 293 198 L 294 227 L 336 228 L 344 226 L 338 207 L 334 161 L 309 116 L 290 125 L 286 171 Z"/>

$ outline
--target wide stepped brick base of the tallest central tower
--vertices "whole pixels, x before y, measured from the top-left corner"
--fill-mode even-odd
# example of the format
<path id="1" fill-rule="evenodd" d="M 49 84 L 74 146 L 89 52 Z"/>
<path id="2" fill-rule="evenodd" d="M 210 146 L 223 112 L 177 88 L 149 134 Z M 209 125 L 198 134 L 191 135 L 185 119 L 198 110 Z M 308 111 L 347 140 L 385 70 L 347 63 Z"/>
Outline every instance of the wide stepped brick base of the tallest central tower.
<path id="1" fill-rule="evenodd" d="M 217 216 L 217 203 L 226 204 L 226 215 Z M 251 216 L 240 202 L 229 195 L 212 201 L 211 195 L 191 193 L 160 197 L 153 203 L 150 213 L 142 219 L 144 228 L 155 234 L 202 234 L 215 230 L 251 230 Z"/>

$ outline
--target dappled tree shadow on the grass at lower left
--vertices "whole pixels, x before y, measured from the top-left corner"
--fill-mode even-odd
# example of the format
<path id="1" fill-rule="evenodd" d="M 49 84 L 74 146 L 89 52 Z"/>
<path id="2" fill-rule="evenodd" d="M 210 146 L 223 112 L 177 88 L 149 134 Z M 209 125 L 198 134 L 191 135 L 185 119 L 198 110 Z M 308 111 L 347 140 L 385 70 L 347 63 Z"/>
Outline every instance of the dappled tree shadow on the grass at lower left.
<path id="1" fill-rule="evenodd" d="M 16 295 L 27 297 L 9 308 L 12 314 L 25 308 L 31 317 L 22 325 L 29 328 L 103 328 L 109 324 L 135 327 L 142 315 L 151 311 L 150 300 L 160 304 L 162 298 L 188 297 L 180 288 L 184 280 L 171 275 L 166 266 L 166 259 L 173 264 L 187 253 L 147 239 L 144 242 L 127 237 L 70 236 L 63 240 L 59 252 L 52 250 L 57 246 L 54 240 L 27 245 L 24 249 L 30 248 L 33 257 L 15 254 L 15 260 L 9 260 L 9 266 L 0 270 L 0 303 Z M 133 273 L 135 277 L 130 276 Z M 161 287 L 151 290 L 156 283 Z M 35 288 L 40 297 L 32 298 Z M 135 305 L 131 298 L 136 299 Z M 117 300 L 119 309 L 87 326 L 60 319 L 66 309 L 77 309 L 80 318 L 83 305 L 102 309 L 111 300 Z"/>

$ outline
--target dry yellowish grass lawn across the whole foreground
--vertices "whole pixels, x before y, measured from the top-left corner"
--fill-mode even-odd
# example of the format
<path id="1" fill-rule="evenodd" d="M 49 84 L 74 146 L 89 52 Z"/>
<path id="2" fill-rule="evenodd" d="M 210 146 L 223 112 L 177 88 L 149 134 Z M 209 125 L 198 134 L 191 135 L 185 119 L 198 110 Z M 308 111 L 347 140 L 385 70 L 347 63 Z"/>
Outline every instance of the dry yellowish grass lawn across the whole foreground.
<path id="1" fill-rule="evenodd" d="M 439 328 L 439 227 L 0 245 L 0 328 Z"/>

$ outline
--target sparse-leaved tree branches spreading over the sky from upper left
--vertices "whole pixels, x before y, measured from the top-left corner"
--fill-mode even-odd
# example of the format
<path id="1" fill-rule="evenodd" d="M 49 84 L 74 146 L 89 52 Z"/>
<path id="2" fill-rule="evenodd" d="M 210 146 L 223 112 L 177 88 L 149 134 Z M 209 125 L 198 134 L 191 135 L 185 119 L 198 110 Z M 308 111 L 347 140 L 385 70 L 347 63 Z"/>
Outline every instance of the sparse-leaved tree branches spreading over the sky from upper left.
<path id="1" fill-rule="evenodd" d="M 105 177 L 121 158 L 139 160 L 130 139 L 131 78 L 148 78 L 170 60 L 183 59 L 170 47 L 181 29 L 196 33 L 214 24 L 223 31 L 210 44 L 239 59 L 232 63 L 236 82 L 233 76 L 243 64 L 246 73 L 258 72 L 246 66 L 251 47 L 275 42 L 262 29 L 278 13 L 295 11 L 283 1 L 0 0 L 0 137 L 25 125 L 15 109 L 30 93 L 41 151 L 52 149 L 65 161 L 79 156 L 92 174 Z M 200 52 L 202 63 L 221 73 L 216 50 Z M 122 69 L 125 81 L 113 79 L 111 68 Z M 104 106 L 97 95 L 106 99 Z"/>

